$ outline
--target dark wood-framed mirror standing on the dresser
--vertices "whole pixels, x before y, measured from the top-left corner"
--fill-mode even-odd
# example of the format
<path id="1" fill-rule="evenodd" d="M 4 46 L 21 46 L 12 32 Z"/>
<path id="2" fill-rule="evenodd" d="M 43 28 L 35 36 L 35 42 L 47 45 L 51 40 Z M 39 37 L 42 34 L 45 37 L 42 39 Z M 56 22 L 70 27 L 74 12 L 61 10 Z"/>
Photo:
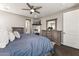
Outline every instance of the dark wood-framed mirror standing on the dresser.
<path id="1" fill-rule="evenodd" d="M 57 30 L 57 18 L 46 21 L 46 30 Z"/>

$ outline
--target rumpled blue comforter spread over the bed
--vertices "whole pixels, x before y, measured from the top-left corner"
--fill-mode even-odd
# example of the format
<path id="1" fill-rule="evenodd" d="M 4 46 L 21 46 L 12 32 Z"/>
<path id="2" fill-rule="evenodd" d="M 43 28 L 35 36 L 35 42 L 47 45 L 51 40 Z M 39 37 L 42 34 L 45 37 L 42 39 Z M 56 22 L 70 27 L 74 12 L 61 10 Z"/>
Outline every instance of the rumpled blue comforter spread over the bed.
<path id="1" fill-rule="evenodd" d="M 53 50 L 50 40 L 34 34 L 22 34 L 20 39 L 0 48 L 0 55 L 10 56 L 41 56 Z"/>

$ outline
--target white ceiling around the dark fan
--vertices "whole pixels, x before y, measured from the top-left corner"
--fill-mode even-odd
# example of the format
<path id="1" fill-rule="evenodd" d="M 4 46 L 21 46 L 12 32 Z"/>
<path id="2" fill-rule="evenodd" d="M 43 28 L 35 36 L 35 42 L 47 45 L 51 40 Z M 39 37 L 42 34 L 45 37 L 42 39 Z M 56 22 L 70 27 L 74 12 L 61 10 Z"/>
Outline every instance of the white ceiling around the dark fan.
<path id="1" fill-rule="evenodd" d="M 18 15 L 28 16 L 28 17 L 34 17 L 34 15 L 38 15 L 37 18 L 45 17 L 48 15 L 51 15 L 55 12 L 70 8 L 72 6 L 75 6 L 75 3 L 30 3 L 30 5 L 34 6 L 42 6 L 40 11 L 40 14 L 33 13 L 30 14 L 30 11 L 24 11 L 22 8 L 28 8 L 28 6 L 25 3 L 0 3 L 0 10 L 15 13 Z"/>

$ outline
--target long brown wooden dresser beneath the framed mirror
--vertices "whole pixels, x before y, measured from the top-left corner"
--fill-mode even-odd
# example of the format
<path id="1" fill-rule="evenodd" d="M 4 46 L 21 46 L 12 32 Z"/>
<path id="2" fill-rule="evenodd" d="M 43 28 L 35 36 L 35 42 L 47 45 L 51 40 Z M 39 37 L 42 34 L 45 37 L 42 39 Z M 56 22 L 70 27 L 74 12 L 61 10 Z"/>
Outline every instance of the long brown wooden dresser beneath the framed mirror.
<path id="1" fill-rule="evenodd" d="M 55 42 L 57 45 L 61 45 L 61 31 L 47 31 L 42 30 L 42 35 L 48 37 L 51 41 Z"/>

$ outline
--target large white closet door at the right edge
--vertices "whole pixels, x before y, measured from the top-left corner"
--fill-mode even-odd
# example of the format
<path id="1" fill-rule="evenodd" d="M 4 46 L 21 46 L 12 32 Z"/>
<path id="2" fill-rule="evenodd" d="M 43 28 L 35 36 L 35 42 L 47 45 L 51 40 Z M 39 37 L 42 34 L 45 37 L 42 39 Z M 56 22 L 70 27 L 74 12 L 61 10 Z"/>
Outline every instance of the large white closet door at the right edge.
<path id="1" fill-rule="evenodd" d="M 79 9 L 63 14 L 63 44 L 79 49 Z"/>

